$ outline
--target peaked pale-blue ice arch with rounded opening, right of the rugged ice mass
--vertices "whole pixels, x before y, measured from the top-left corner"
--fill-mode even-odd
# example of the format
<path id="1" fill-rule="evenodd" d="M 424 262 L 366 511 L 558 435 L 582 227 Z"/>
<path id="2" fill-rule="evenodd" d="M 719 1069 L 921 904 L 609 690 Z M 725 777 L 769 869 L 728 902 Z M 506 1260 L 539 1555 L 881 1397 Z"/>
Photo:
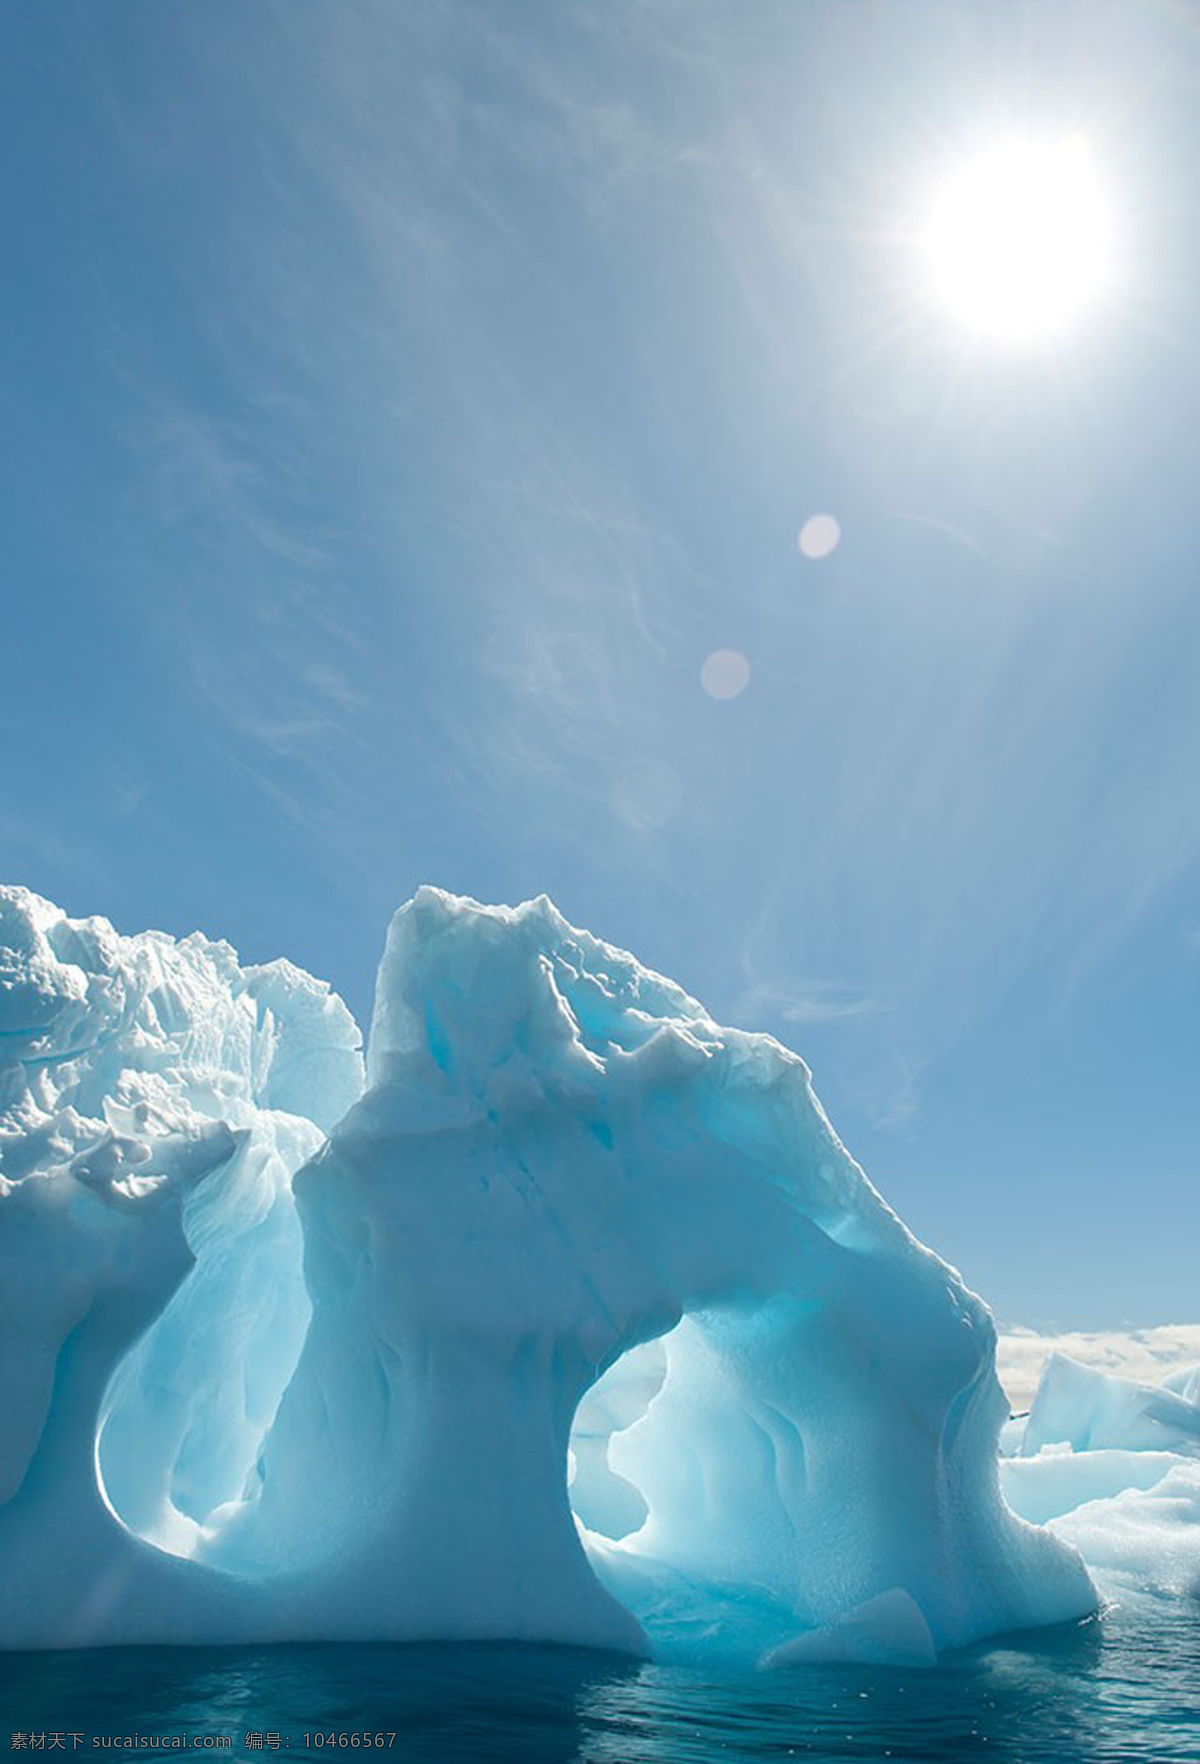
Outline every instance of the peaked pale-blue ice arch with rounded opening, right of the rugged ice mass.
<path id="1" fill-rule="evenodd" d="M 646 1644 L 632 1612 L 653 1642 L 748 1605 L 778 1642 L 893 1589 L 937 1648 L 1091 1605 L 999 1498 L 986 1309 L 803 1060 L 547 900 L 401 908 L 367 1094 L 295 1189 L 312 1325 L 214 1561 L 282 1572 L 304 1540 L 372 1632 L 605 1646 Z M 664 1335 L 607 1489 L 589 1466 L 641 1524 L 581 1542 L 572 1420 Z"/>

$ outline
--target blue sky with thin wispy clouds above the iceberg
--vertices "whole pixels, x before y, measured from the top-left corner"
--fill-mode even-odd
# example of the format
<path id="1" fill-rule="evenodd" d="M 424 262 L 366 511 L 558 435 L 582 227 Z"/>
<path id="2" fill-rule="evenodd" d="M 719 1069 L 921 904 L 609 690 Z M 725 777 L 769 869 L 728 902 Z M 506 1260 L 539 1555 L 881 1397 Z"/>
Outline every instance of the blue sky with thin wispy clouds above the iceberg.
<path id="1" fill-rule="evenodd" d="M 1200 11 L 4 35 L 0 871 L 360 1018 L 416 884 L 547 891 L 799 1048 L 1002 1318 L 1196 1316 Z M 1024 351 L 912 250 L 1013 125 L 1121 249 Z"/>

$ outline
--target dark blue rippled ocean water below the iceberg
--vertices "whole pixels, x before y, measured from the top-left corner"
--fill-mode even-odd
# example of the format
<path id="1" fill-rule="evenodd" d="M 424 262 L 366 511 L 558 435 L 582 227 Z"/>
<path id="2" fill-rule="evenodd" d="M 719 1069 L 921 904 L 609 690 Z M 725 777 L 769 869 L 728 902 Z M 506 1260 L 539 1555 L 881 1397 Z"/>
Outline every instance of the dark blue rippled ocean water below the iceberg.
<path id="1" fill-rule="evenodd" d="M 221 1757 L 392 1764 L 1184 1764 L 1200 1760 L 1200 1607 L 1133 1600 L 928 1672 L 720 1672 L 482 1644 L 5 1655 L 0 1711 L 0 1748 L 32 1736 L 60 1757 L 166 1738 Z"/>

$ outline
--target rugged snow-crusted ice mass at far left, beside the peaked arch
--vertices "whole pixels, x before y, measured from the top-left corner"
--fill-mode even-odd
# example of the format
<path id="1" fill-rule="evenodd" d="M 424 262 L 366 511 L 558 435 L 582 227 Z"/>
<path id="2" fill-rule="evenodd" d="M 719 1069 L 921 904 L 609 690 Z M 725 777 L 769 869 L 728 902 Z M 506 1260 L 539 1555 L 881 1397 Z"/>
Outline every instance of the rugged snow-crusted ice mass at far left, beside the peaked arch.
<path id="1" fill-rule="evenodd" d="M 291 963 L 0 889 L 0 1639 L 222 1633 L 182 1558 L 295 1365 L 291 1175 L 360 1092 Z"/>

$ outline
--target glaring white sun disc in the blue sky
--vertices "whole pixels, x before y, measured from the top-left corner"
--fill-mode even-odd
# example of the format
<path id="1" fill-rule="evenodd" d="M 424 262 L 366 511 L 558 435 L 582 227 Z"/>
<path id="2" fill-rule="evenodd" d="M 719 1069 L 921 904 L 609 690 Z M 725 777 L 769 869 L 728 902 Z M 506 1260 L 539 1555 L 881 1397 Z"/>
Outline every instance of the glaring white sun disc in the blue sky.
<path id="1" fill-rule="evenodd" d="M 923 233 L 930 291 L 983 337 L 1061 333 L 1112 277 L 1112 226 L 1087 141 L 1013 138 L 953 171 Z"/>

